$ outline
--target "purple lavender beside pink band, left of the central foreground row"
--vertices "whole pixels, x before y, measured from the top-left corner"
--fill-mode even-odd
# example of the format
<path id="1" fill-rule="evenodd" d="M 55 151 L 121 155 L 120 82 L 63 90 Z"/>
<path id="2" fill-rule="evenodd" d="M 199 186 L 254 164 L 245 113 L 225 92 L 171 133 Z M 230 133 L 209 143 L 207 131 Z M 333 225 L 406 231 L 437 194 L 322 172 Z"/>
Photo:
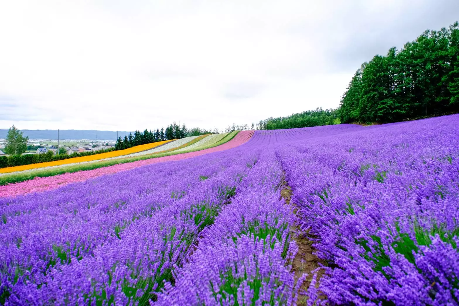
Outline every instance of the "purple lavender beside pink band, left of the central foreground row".
<path id="1" fill-rule="evenodd" d="M 106 296 L 145 305 L 234 195 L 255 158 L 223 151 L 4 200 L 2 292 L 13 304 L 81 305 Z M 17 269 L 29 267 L 33 273 L 15 279 Z"/>

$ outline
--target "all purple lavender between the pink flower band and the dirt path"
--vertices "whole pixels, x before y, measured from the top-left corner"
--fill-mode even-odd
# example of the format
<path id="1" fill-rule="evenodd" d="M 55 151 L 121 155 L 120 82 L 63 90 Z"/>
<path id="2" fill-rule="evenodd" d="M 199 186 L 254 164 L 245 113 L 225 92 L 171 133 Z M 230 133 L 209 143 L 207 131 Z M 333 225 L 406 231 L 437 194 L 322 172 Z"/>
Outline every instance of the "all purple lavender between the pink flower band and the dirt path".
<path id="1" fill-rule="evenodd" d="M 282 175 L 256 145 L 0 199 L 0 302 L 291 304 Z"/>

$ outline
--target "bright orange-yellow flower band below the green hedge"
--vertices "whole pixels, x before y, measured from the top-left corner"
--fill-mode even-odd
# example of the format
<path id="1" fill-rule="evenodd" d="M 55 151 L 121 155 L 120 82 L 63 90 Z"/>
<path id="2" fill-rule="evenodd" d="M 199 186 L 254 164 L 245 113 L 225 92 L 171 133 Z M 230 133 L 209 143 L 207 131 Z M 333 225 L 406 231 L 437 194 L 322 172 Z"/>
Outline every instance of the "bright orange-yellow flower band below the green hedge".
<path id="1" fill-rule="evenodd" d="M 158 142 L 153 142 L 151 144 L 146 144 L 146 145 L 136 145 L 135 147 L 132 147 L 129 149 L 117 150 L 117 151 L 106 152 L 106 153 L 101 153 L 101 154 L 94 154 L 94 155 L 89 155 L 89 156 L 73 157 L 73 158 L 63 159 L 61 161 L 47 161 L 47 162 L 40 162 L 38 164 L 6 167 L 6 168 L 1 168 L 0 173 L 8 173 L 8 172 L 29 170 L 29 169 L 35 169 L 35 168 L 51 167 L 51 166 L 60 166 L 60 165 L 66 165 L 66 164 L 73 164 L 75 162 L 95 161 L 95 160 L 104 159 L 104 158 L 128 155 L 131 153 L 137 153 L 140 151 L 150 150 L 154 147 L 157 147 L 158 145 L 163 145 L 165 143 L 168 143 L 169 141 L 172 141 L 172 140 L 158 141 Z"/>

